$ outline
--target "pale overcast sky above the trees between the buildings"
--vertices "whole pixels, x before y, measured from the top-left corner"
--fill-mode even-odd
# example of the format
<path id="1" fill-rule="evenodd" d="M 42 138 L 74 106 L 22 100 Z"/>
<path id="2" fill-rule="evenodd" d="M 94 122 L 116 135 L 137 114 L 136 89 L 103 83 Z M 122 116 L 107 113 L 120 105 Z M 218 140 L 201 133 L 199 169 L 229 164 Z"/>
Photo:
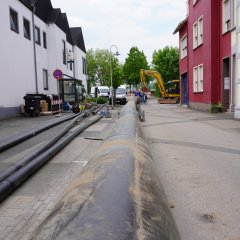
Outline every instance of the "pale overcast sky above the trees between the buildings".
<path id="1" fill-rule="evenodd" d="M 178 23 L 186 16 L 186 0 L 51 0 L 67 13 L 70 27 L 82 27 L 86 49 L 116 45 L 124 62 L 137 46 L 151 63 L 154 50 L 178 46 Z M 115 52 L 115 47 L 111 48 Z"/>

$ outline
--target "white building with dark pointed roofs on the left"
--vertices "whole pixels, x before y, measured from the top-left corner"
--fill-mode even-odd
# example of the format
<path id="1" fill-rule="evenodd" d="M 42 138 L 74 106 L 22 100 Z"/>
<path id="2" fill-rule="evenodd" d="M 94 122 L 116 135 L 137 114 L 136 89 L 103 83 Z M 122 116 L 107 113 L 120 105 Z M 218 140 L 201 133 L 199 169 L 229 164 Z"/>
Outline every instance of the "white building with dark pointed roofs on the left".
<path id="1" fill-rule="evenodd" d="M 70 28 L 50 0 L 1 1 L 0 22 L 0 119 L 18 115 L 28 93 L 58 94 L 55 69 L 63 72 L 63 100 L 76 97 L 70 85 L 87 89 L 82 30 Z"/>

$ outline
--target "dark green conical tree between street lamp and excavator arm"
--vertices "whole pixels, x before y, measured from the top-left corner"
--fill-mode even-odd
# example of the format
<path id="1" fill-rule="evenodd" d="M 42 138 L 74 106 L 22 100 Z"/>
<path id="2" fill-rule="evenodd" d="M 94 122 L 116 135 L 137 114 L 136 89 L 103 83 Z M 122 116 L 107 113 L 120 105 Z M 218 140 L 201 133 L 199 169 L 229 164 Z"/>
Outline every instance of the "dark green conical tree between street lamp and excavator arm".
<path id="1" fill-rule="evenodd" d="M 124 76 L 128 85 L 137 85 L 140 82 L 140 70 L 148 69 L 147 58 L 137 47 L 132 47 L 123 65 Z"/>

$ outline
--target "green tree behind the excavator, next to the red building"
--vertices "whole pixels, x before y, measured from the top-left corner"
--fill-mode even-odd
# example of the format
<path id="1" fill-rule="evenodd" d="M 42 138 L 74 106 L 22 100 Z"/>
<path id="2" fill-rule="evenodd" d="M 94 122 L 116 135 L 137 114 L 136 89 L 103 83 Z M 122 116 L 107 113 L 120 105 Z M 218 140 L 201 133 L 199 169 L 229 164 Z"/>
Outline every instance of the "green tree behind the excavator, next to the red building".
<path id="1" fill-rule="evenodd" d="M 164 82 L 179 79 L 178 48 L 165 47 L 153 52 L 152 65 L 154 70 L 161 73 Z"/>

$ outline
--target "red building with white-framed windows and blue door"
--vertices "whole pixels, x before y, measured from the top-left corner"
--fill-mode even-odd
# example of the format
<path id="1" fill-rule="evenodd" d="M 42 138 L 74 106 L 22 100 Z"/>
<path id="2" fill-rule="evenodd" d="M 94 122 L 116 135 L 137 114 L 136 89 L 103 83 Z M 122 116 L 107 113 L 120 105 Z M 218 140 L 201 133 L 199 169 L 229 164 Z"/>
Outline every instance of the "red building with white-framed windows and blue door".
<path id="1" fill-rule="evenodd" d="M 189 0 L 187 17 L 174 31 L 179 32 L 181 103 L 190 108 L 231 107 L 232 1 Z"/>

